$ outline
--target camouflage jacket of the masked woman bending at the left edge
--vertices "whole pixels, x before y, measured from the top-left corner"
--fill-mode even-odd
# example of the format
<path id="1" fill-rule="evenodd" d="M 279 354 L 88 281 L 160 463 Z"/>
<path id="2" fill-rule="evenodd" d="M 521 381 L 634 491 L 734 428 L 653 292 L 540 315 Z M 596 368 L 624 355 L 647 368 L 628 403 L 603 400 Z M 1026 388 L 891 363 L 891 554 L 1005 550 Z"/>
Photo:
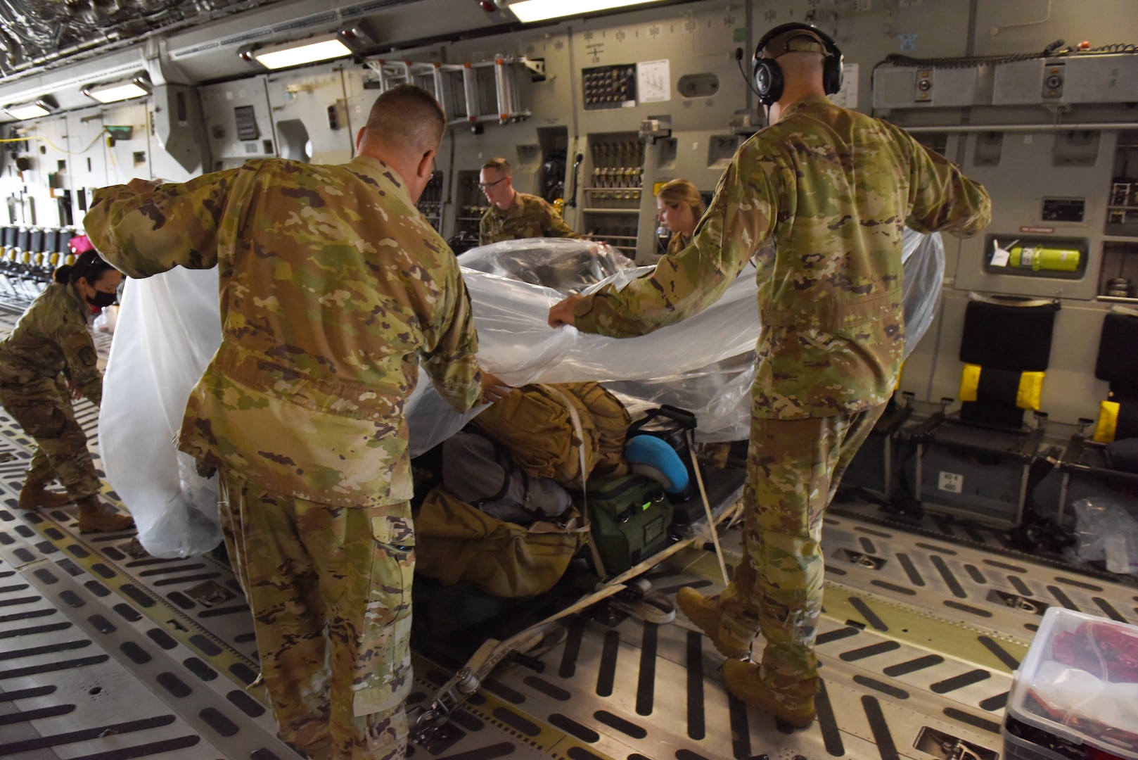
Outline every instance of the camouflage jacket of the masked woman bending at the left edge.
<path id="1" fill-rule="evenodd" d="M 52 283 L 16 327 L 0 341 L 0 385 L 26 387 L 36 378 L 56 378 L 67 369 L 91 403 L 102 401 L 102 374 L 86 320 L 91 308 L 71 285 Z"/>

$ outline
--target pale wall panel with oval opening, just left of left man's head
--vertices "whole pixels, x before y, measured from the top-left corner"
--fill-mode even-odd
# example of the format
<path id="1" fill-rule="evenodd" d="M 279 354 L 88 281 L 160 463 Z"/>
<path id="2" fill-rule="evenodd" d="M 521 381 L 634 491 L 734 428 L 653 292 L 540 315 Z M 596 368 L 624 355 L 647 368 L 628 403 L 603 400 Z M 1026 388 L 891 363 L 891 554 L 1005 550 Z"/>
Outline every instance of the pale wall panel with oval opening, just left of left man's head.
<path id="1" fill-rule="evenodd" d="M 355 136 L 346 120 L 344 66 L 302 68 L 265 79 L 280 157 L 315 164 L 352 160 Z"/>

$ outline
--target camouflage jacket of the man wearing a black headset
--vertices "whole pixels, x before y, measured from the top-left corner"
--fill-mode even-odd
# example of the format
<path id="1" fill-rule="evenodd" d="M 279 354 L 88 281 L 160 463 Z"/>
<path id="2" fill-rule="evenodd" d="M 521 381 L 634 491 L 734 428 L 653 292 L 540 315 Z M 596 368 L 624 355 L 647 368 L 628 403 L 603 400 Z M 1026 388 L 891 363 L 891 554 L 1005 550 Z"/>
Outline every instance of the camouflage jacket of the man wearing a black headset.
<path id="1" fill-rule="evenodd" d="M 759 286 L 757 416 L 851 414 L 893 391 L 905 345 L 901 230 L 972 235 L 984 189 L 901 129 L 808 96 L 740 147 L 692 244 L 582 300 L 578 329 L 642 335 Z"/>

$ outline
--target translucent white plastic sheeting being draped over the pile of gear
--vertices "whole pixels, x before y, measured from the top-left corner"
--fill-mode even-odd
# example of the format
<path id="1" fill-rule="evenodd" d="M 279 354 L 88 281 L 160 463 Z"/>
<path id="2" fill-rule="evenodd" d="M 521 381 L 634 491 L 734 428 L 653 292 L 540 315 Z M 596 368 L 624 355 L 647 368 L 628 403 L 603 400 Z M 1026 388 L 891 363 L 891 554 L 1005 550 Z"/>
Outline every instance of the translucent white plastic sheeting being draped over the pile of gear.
<path id="1" fill-rule="evenodd" d="M 909 350 L 937 313 L 945 270 L 940 236 L 907 230 L 904 256 Z M 469 251 L 459 261 L 473 303 L 479 360 L 504 381 L 603 381 L 633 411 L 660 403 L 695 411 L 702 440 L 747 438 L 759 334 L 750 267 L 702 313 L 617 340 L 546 325 L 550 307 L 566 293 L 624 284 L 643 271 L 628 269 L 627 259 L 604 245 L 518 240 Z M 129 283 L 107 366 L 99 440 L 107 479 L 155 556 L 201 554 L 221 541 L 216 481 L 198 477 L 173 443 L 190 391 L 220 342 L 216 270 L 178 268 Z M 426 451 L 472 416 L 451 410 L 421 377 L 407 404 L 412 451 Z"/>

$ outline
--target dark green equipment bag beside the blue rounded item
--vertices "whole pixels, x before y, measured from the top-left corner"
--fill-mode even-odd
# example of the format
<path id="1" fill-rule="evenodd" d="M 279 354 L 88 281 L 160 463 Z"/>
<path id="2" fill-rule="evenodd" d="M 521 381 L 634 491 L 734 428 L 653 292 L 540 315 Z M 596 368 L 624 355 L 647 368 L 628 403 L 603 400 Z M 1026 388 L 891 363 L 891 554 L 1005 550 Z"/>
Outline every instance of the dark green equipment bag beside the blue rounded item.
<path id="1" fill-rule="evenodd" d="M 579 508 L 580 493 L 574 499 Z M 643 475 L 591 477 L 585 499 L 603 574 L 622 573 L 668 546 L 671 502 L 659 481 Z"/>

